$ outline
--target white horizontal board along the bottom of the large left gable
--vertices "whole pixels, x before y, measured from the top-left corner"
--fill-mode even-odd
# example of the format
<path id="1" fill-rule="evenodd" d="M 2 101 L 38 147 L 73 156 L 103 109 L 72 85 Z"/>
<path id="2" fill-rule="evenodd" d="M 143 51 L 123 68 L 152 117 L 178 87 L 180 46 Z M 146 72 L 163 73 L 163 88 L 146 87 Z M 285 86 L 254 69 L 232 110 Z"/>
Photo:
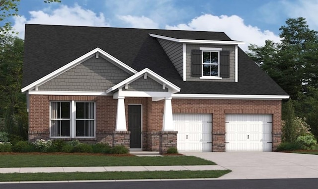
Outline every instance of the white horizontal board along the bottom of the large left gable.
<path id="1" fill-rule="evenodd" d="M 83 96 L 106 96 L 106 92 L 86 91 L 28 91 L 29 95 L 83 95 Z"/>

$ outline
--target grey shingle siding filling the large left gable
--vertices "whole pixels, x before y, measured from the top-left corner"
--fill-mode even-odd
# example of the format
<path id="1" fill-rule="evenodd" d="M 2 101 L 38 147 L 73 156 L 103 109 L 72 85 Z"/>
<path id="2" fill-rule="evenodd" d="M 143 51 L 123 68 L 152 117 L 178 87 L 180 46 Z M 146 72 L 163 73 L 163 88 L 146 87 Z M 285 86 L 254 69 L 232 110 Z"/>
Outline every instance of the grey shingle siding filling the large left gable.
<path id="1" fill-rule="evenodd" d="M 111 62 L 92 57 L 39 86 L 39 91 L 106 91 L 131 75 Z M 162 88 L 162 87 L 161 87 Z"/>

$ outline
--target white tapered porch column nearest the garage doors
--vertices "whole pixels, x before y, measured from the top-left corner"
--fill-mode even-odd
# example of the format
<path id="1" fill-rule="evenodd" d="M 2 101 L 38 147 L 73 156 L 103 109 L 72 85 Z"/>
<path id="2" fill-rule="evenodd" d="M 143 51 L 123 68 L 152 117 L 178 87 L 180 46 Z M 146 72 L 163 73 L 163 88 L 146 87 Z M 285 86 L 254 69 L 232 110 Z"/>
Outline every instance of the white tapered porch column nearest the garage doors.
<path id="1" fill-rule="evenodd" d="M 171 99 L 164 97 L 162 131 L 174 131 Z"/>

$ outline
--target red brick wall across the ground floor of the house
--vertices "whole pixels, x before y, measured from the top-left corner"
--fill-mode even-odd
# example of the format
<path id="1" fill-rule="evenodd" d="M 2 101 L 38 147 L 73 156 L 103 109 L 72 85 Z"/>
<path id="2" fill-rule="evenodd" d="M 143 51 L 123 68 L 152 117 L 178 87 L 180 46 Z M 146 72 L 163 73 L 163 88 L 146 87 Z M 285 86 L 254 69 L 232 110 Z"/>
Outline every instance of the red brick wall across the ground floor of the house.
<path id="1" fill-rule="evenodd" d="M 95 101 L 97 137 L 95 141 L 105 141 L 102 136 L 115 130 L 117 99 L 113 99 L 112 96 L 30 95 L 29 140 L 49 138 L 51 100 Z M 162 130 L 164 100 L 152 101 L 150 97 L 126 97 L 127 129 L 128 104 L 142 104 L 143 149 L 159 149 L 158 141 L 151 141 L 151 138 L 156 137 L 148 138 L 146 133 Z M 212 151 L 225 151 L 225 115 L 229 113 L 273 114 L 273 150 L 281 142 L 280 100 L 172 99 L 172 111 L 173 113 L 211 113 L 213 115 Z"/>

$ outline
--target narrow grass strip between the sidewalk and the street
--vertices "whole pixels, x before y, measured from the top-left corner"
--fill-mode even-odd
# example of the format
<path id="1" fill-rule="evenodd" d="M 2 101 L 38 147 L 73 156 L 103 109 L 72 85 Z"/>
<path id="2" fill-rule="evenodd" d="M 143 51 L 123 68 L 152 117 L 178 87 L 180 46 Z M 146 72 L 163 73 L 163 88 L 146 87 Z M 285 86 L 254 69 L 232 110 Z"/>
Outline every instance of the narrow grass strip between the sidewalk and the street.
<path id="1" fill-rule="evenodd" d="M 213 170 L 98 173 L 10 173 L 0 174 L 0 182 L 218 178 L 230 172 L 230 170 Z"/>

